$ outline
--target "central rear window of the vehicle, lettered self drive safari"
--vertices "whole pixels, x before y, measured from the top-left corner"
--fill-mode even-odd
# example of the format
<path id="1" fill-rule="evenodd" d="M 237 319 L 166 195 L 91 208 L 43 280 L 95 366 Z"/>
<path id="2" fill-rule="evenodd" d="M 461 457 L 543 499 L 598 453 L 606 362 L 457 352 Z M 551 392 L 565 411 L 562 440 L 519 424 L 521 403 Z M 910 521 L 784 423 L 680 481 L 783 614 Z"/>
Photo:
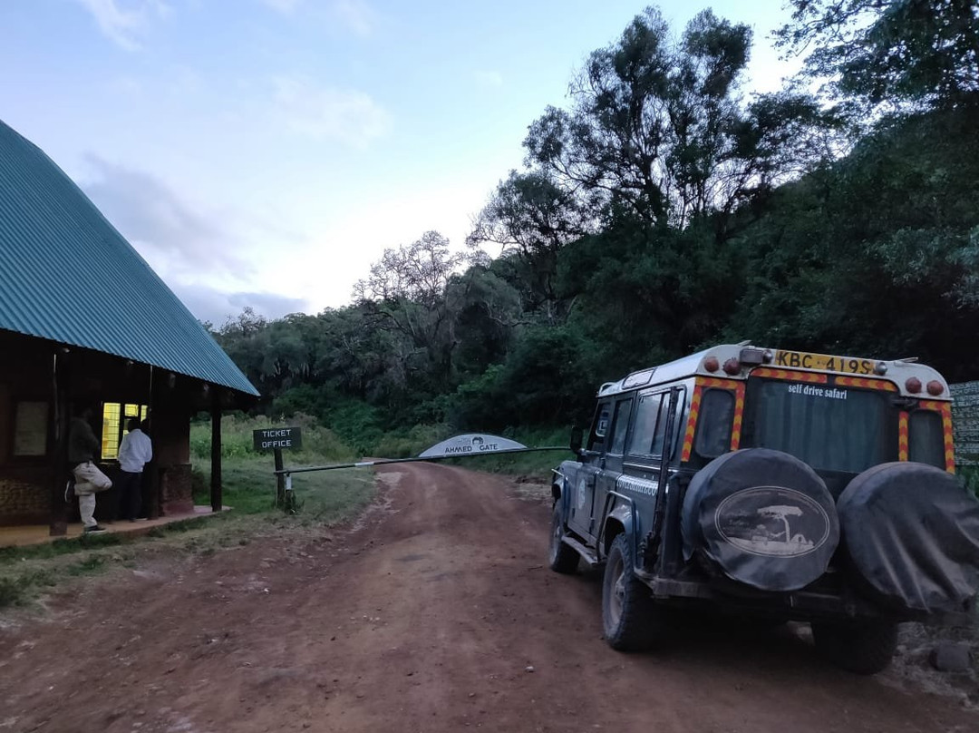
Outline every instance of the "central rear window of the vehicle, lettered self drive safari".
<path id="1" fill-rule="evenodd" d="M 888 396 L 776 379 L 748 380 L 744 448 L 784 451 L 814 468 L 859 473 L 896 459 L 888 441 Z"/>

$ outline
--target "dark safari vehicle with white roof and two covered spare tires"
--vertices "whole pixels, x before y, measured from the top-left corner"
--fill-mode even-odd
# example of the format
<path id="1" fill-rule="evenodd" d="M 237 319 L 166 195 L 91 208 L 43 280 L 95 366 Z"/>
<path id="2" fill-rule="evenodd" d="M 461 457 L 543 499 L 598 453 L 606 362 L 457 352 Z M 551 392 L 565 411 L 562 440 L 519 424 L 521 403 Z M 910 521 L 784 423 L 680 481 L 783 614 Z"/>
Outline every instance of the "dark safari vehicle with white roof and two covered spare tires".
<path id="1" fill-rule="evenodd" d="M 899 622 L 974 610 L 979 502 L 954 475 L 951 404 L 910 359 L 739 344 L 634 371 L 554 470 L 550 567 L 604 563 L 617 650 L 702 606 L 809 621 L 829 659 L 879 671 Z"/>

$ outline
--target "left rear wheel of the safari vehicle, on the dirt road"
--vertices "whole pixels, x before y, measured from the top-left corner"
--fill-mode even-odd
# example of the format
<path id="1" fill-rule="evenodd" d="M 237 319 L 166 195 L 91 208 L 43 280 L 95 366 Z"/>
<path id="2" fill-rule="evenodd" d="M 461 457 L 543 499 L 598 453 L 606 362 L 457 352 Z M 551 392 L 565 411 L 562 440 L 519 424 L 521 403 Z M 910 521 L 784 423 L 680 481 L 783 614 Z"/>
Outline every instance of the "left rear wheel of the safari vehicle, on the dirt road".
<path id="1" fill-rule="evenodd" d="M 609 550 L 602 581 L 605 641 L 620 652 L 648 649 L 657 639 L 658 613 L 650 590 L 632 573 L 632 551 L 625 533 Z"/>

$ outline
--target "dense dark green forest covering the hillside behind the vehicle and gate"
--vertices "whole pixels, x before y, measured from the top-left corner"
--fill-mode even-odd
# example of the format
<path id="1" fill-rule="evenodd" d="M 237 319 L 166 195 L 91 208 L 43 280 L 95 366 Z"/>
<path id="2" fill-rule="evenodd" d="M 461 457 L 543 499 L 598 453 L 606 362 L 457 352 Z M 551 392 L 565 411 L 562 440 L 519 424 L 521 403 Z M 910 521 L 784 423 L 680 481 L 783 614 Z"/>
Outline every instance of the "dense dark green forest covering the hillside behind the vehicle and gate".
<path id="1" fill-rule="evenodd" d="M 979 378 L 979 3 L 790 5 L 781 91 L 745 90 L 746 25 L 648 8 L 529 122 L 469 247 L 421 233 L 346 308 L 213 329 L 257 411 L 364 452 L 566 425 L 603 381 L 745 339 Z"/>

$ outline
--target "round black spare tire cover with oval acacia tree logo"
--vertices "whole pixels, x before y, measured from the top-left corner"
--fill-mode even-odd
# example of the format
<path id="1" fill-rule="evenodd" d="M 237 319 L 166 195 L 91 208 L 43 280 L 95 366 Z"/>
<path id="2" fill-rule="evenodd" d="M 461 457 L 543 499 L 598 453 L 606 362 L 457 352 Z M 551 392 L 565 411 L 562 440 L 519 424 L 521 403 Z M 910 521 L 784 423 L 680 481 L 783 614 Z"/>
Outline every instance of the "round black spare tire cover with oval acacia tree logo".
<path id="1" fill-rule="evenodd" d="M 723 455 L 690 481 L 683 554 L 700 553 L 727 577 L 792 591 L 826 571 L 840 540 L 833 497 L 807 464 L 781 451 Z"/>

